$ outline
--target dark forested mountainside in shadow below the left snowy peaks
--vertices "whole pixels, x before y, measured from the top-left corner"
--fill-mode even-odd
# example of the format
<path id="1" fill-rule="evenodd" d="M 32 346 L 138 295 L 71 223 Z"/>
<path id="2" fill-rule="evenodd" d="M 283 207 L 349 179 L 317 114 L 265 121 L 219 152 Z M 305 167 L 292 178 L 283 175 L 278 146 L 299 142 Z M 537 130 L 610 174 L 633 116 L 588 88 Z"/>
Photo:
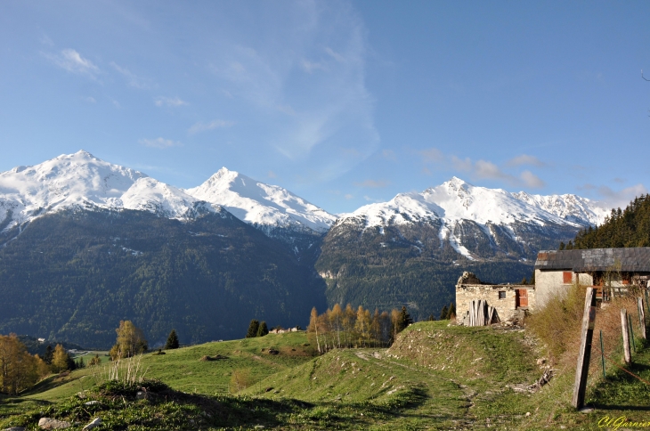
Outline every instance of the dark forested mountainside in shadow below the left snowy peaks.
<path id="1" fill-rule="evenodd" d="M 173 328 L 198 343 L 240 337 L 253 318 L 306 326 L 326 307 L 313 266 L 226 211 L 182 223 L 69 210 L 5 232 L 0 247 L 2 334 L 106 348 L 130 320 L 155 347 Z"/>

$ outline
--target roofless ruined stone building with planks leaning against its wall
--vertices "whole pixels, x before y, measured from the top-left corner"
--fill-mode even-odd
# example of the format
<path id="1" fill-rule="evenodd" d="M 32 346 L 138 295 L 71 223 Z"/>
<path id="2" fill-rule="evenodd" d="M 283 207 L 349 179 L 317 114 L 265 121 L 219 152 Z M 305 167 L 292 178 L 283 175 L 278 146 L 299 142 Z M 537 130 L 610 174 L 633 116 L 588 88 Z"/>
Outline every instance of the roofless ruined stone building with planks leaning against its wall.
<path id="1" fill-rule="evenodd" d="M 463 272 L 456 283 L 456 321 L 466 326 L 521 320 L 535 303 L 533 285 L 487 283 L 472 272 Z M 477 315 L 484 316 L 480 323 Z"/>

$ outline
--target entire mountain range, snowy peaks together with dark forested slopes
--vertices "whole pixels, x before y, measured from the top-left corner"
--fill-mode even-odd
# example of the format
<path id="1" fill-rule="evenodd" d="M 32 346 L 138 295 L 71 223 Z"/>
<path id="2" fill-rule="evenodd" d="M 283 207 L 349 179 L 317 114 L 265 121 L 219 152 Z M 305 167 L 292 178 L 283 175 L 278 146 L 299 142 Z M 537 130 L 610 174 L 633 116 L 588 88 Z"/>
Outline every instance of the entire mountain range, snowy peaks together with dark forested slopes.
<path id="1" fill-rule="evenodd" d="M 606 214 L 452 178 L 333 216 L 226 168 L 182 190 L 82 150 L 0 174 L 0 333 L 106 346 L 131 319 L 198 342 L 335 303 L 424 319 L 463 271 L 521 281 L 540 248 Z"/>

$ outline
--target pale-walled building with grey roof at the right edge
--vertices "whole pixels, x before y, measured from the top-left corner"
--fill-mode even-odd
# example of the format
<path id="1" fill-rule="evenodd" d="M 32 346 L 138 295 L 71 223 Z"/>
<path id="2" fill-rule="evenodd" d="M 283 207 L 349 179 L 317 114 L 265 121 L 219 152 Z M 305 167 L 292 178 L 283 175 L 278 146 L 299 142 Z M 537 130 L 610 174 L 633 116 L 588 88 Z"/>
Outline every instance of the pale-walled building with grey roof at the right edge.
<path id="1" fill-rule="evenodd" d="M 546 305 L 573 283 L 597 289 L 597 299 L 607 301 L 630 286 L 647 289 L 649 276 L 650 247 L 540 251 L 535 262 L 537 305 Z"/>

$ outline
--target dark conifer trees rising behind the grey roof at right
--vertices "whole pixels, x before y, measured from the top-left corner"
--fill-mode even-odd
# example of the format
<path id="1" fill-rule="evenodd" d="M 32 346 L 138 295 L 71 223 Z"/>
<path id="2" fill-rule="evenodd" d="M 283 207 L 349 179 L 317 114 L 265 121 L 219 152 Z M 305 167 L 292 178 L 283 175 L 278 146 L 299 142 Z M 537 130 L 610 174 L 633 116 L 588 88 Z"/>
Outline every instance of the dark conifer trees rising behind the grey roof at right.
<path id="1" fill-rule="evenodd" d="M 605 222 L 578 232 L 560 249 L 650 247 L 650 195 L 640 196 L 625 209 L 613 209 Z"/>

